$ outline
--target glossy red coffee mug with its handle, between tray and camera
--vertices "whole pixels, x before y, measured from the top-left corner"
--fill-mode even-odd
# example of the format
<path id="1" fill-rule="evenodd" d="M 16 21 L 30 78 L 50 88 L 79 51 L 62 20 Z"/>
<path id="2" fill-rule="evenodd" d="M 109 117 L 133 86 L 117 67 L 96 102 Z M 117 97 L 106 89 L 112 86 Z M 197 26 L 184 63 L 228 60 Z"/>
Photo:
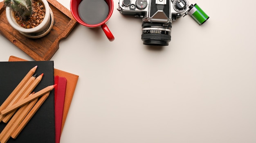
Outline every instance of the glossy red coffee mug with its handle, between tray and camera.
<path id="1" fill-rule="evenodd" d="M 70 11 L 74 17 L 74 19 L 81 25 L 89 27 L 89 28 L 96 28 L 101 26 L 102 30 L 104 31 L 104 33 L 106 34 L 106 36 L 108 37 L 109 41 L 114 41 L 115 37 L 113 36 L 113 34 L 110 32 L 108 26 L 106 25 L 106 22 L 110 19 L 113 10 L 114 10 L 114 2 L 113 0 L 105 0 L 106 3 L 108 4 L 108 16 L 105 20 L 103 20 L 101 23 L 99 24 L 87 24 L 85 22 L 83 22 L 83 20 L 81 20 L 81 18 L 79 17 L 79 13 L 78 13 L 78 6 L 80 4 L 82 0 L 71 0 L 70 1 Z"/>

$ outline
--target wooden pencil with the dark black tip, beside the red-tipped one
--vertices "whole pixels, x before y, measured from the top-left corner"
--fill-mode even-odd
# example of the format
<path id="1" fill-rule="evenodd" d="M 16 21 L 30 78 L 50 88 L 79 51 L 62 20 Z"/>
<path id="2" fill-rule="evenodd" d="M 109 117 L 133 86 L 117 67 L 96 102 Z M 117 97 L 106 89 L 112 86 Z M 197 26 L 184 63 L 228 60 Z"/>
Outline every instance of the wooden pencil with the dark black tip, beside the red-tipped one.
<path id="1" fill-rule="evenodd" d="M 33 76 L 31 76 L 29 78 L 29 80 L 25 83 L 25 85 L 20 89 L 20 91 L 14 96 L 13 100 L 11 100 L 11 102 L 7 105 L 6 108 L 8 108 L 9 106 L 15 104 L 18 102 L 18 100 L 20 100 L 20 98 L 22 97 L 23 93 L 25 93 L 25 91 L 29 88 L 29 86 L 32 84 L 32 82 L 34 82 L 36 78 L 36 74 L 34 74 Z M 4 119 L 6 116 L 4 115 L 0 115 L 0 121 L 3 121 L 4 123 L 7 123 L 7 120 Z"/>

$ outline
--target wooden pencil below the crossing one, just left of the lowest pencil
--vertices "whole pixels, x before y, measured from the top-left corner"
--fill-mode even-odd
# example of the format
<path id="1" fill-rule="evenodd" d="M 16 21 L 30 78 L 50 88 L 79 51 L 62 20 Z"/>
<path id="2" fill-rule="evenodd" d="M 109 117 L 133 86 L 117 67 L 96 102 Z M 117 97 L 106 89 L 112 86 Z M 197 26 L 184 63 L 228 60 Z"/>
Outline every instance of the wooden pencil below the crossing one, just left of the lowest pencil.
<path id="1" fill-rule="evenodd" d="M 16 119 L 16 121 L 14 121 L 14 123 L 11 124 L 11 126 L 9 127 L 9 130 L 4 134 L 4 137 L 2 137 L 2 139 L 0 140 L 1 143 L 6 143 L 9 140 L 9 138 L 11 137 L 11 134 L 16 130 L 16 128 L 21 123 L 21 121 L 26 117 L 26 115 L 29 113 L 31 108 L 36 104 L 37 100 L 38 98 L 26 104 L 27 106 L 25 106 L 24 108 L 19 108 L 18 111 L 21 111 L 21 112 L 15 113 L 15 114 L 19 114 L 18 118 Z"/>

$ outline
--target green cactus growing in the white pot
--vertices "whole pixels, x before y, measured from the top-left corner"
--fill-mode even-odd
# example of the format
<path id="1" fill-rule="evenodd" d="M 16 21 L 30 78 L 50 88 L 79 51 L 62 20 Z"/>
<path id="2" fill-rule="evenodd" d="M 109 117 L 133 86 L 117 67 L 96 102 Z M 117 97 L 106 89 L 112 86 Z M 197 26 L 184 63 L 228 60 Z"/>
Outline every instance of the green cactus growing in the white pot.
<path id="1" fill-rule="evenodd" d="M 32 14 L 31 0 L 4 0 L 4 5 L 22 17 L 30 17 Z"/>

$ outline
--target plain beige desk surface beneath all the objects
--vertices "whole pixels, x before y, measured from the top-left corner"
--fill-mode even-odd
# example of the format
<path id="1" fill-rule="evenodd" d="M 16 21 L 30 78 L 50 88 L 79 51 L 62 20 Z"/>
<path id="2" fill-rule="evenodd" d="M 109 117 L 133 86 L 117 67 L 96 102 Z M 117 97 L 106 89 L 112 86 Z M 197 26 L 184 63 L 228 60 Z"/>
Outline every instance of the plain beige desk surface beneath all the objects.
<path id="1" fill-rule="evenodd" d="M 115 41 L 78 25 L 51 59 L 80 76 L 61 143 L 256 143 L 255 0 L 190 0 L 209 21 L 181 17 L 160 50 L 114 2 Z M 0 61 L 32 60 L 0 43 Z"/>

